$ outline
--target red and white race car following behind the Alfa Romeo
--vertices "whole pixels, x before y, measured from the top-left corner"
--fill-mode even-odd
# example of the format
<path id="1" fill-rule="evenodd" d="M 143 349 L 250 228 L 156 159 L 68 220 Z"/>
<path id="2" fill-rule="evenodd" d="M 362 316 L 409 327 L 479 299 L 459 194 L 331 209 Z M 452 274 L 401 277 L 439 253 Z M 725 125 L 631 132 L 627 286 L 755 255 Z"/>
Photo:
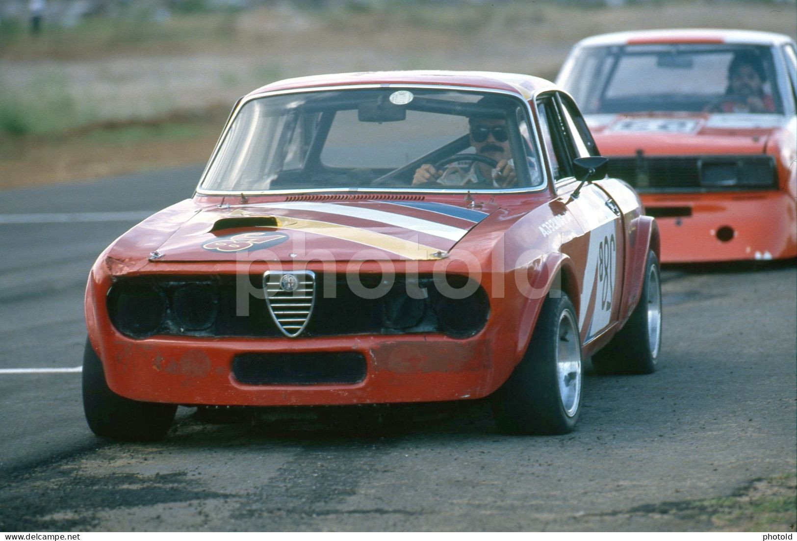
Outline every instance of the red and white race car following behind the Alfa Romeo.
<path id="1" fill-rule="evenodd" d="M 662 262 L 797 256 L 795 42 L 740 30 L 589 37 L 557 82 L 609 174 L 660 218 Z"/>

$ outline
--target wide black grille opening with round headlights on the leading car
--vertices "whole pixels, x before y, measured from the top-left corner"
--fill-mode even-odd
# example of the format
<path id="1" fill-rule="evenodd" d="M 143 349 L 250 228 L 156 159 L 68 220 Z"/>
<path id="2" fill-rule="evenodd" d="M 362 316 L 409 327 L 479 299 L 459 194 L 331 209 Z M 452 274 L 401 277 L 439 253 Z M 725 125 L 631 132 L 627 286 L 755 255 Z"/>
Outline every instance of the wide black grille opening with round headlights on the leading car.
<path id="1" fill-rule="evenodd" d="M 120 278 L 108 292 L 108 312 L 116 329 L 132 338 L 410 333 L 467 338 L 481 331 L 489 316 L 487 293 L 467 276 L 385 280 L 379 273 L 363 274 L 362 287 L 353 288 L 356 280 L 345 274 L 318 273 L 311 279 L 304 272 L 273 273 L 268 279 L 264 274 Z M 286 275 L 296 278 L 295 291 L 282 288 Z M 292 278 L 285 280 L 292 289 Z M 458 298 L 462 292 L 467 294 Z"/>

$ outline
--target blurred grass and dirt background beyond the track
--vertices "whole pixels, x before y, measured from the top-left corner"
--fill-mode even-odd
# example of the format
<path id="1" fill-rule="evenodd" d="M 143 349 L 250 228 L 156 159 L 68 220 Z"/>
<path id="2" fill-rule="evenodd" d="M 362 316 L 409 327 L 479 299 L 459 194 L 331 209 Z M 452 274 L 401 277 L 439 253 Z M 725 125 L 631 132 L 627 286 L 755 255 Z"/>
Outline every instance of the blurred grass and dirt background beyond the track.
<path id="1" fill-rule="evenodd" d="M 794 0 L 49 0 L 38 33 L 29 15 L 0 2 L 0 186 L 38 182 L 30 164 L 49 182 L 202 161 L 238 96 L 289 76 L 552 78 L 595 33 L 797 33 Z"/>

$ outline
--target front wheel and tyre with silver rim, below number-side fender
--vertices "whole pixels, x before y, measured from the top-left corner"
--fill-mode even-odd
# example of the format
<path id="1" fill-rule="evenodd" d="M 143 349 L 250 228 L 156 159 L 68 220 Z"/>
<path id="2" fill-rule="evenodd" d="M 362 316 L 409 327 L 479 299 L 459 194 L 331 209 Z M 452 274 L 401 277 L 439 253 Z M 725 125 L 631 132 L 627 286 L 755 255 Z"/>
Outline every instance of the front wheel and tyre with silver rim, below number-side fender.
<path id="1" fill-rule="evenodd" d="M 507 433 L 571 432 L 581 410 L 581 339 L 567 295 L 548 296 L 526 354 L 493 394 L 498 428 Z"/>

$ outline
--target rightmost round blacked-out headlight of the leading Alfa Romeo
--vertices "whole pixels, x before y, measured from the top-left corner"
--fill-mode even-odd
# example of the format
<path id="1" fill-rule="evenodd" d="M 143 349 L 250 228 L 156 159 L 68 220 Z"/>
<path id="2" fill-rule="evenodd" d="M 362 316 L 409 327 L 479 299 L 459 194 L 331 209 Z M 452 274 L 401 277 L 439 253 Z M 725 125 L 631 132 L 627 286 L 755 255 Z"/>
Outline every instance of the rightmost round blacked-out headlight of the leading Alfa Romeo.
<path id="1" fill-rule="evenodd" d="M 466 338 L 481 331 L 487 323 L 490 303 L 484 288 L 465 276 L 435 277 L 432 307 L 440 330 L 455 338 Z"/>

